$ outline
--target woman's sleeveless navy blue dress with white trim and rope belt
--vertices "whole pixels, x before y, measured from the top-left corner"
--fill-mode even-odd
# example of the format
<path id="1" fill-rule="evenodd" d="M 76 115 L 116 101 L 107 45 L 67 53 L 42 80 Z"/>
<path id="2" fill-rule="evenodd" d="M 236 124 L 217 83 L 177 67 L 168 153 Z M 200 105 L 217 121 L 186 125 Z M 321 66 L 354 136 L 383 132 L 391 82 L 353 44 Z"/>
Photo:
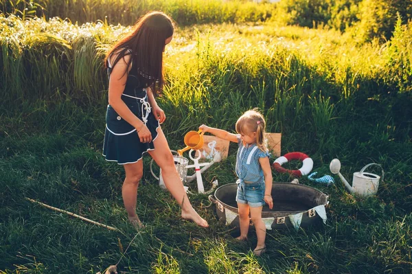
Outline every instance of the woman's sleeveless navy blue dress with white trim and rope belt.
<path id="1" fill-rule="evenodd" d="M 108 63 L 108 77 L 110 79 L 111 64 Z M 144 75 L 144 74 L 143 74 Z M 157 137 L 159 120 L 152 113 L 148 102 L 147 87 L 142 84 L 142 73 L 132 65 L 122 94 L 123 102 L 130 111 L 141 119 L 152 133 L 150 143 L 141 143 L 136 128 L 120 117 L 109 104 L 106 111 L 106 130 L 104 132 L 103 156 L 106 161 L 117 161 L 120 165 L 136 163 L 144 152 L 154 150 L 153 141 Z"/>

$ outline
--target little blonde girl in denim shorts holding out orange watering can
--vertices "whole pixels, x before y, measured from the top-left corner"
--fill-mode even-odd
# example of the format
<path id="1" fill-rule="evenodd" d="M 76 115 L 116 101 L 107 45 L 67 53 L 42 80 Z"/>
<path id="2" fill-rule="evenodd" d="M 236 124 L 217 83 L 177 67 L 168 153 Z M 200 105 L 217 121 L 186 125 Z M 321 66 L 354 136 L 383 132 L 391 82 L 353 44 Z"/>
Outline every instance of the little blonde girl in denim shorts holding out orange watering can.
<path id="1" fill-rule="evenodd" d="M 205 133 L 211 133 L 225 140 L 239 144 L 236 156 L 236 175 L 238 175 L 238 203 L 240 219 L 240 236 L 238 240 L 246 240 L 249 231 L 249 212 L 255 225 L 258 244 L 253 253 L 262 255 L 266 251 L 266 227 L 262 220 L 262 208 L 265 202 L 273 208 L 271 196 L 272 171 L 268 158 L 268 149 L 264 144 L 264 117 L 258 111 L 245 112 L 236 122 L 238 135 L 226 130 L 199 126 Z"/>

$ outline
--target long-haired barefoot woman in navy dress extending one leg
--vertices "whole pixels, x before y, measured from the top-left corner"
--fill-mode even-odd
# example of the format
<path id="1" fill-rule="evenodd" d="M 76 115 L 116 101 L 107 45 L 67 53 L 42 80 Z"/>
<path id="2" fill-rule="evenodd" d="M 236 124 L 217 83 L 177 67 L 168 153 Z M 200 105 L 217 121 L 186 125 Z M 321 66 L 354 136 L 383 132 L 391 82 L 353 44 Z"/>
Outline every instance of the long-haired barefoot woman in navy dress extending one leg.
<path id="1" fill-rule="evenodd" d="M 135 209 L 144 152 L 161 168 L 166 187 L 181 206 L 181 216 L 208 226 L 187 198 L 161 130 L 166 116 L 155 100 L 155 84 L 160 89 L 163 85 L 163 52 L 172 41 L 173 32 L 172 19 L 162 12 L 150 12 L 130 34 L 115 43 L 105 60 L 109 84 L 103 155 L 107 161 L 124 166 L 124 207 L 136 228 L 141 227 Z"/>

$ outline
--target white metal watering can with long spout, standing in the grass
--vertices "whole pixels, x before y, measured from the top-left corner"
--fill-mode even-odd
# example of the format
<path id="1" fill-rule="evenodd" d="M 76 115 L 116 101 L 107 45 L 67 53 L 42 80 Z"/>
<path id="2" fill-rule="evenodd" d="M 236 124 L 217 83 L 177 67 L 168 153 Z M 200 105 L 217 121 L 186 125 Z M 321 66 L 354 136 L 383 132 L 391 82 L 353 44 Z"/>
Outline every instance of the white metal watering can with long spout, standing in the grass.
<path id="1" fill-rule="evenodd" d="M 360 196 L 369 196 L 374 195 L 378 192 L 379 180 L 384 176 L 383 169 L 380 165 L 378 165 L 382 169 L 382 176 L 378 176 L 373 173 L 365 172 L 366 168 L 371 165 L 378 165 L 377 163 L 369 163 L 365 165 L 360 172 L 354 172 L 354 178 L 352 181 L 352 186 L 347 183 L 346 179 L 342 176 L 341 172 L 341 161 L 339 159 L 333 159 L 330 162 L 329 168 L 330 172 L 333 174 L 338 174 L 339 178 L 345 183 L 345 187 L 349 190 L 350 193 L 358 194 Z"/>

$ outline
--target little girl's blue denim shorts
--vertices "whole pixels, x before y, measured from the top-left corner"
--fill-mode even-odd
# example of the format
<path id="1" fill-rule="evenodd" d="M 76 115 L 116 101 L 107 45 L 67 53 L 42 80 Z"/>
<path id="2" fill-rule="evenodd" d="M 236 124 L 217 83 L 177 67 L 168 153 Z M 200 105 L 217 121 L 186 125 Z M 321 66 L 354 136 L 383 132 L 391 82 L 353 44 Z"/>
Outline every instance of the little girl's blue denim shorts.
<path id="1" fill-rule="evenodd" d="M 262 207 L 264 202 L 264 182 L 262 183 L 244 183 L 241 180 L 238 184 L 238 193 L 236 194 L 236 202 L 244 203 L 250 207 Z"/>

